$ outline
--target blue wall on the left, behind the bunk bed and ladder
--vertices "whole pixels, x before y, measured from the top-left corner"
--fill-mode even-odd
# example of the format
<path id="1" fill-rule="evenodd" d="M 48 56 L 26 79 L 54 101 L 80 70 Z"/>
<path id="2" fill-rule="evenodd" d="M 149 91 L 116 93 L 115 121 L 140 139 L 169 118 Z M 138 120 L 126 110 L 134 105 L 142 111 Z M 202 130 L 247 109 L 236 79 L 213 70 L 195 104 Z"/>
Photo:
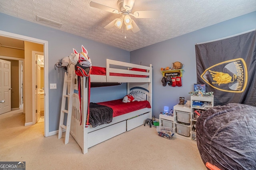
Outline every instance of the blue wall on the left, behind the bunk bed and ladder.
<path id="1" fill-rule="evenodd" d="M 2 13 L 0 13 L 0 30 L 48 41 L 49 84 L 57 84 L 57 89 L 49 88 L 50 132 L 58 130 L 60 120 L 59 117 L 64 69 L 61 68 L 60 72 L 54 69 L 54 64 L 58 62 L 59 59 L 70 55 L 70 53 L 73 52 L 73 48 L 78 52 L 81 52 L 81 45 L 84 45 L 88 51 L 89 57 L 92 60 L 92 65 L 105 67 L 106 58 L 130 62 L 130 52 L 128 51 L 72 35 L 70 33 L 58 31 L 50 27 L 21 20 Z M 108 93 L 106 93 L 106 91 Z M 94 94 L 98 94 L 98 96 L 100 96 L 100 98 L 98 98 L 100 99 L 99 102 L 104 100 L 119 99 L 126 95 L 126 84 L 106 87 L 106 89 L 94 88 L 91 90 L 91 95 Z M 92 102 L 96 102 L 96 100 L 97 99 L 92 98 Z"/>

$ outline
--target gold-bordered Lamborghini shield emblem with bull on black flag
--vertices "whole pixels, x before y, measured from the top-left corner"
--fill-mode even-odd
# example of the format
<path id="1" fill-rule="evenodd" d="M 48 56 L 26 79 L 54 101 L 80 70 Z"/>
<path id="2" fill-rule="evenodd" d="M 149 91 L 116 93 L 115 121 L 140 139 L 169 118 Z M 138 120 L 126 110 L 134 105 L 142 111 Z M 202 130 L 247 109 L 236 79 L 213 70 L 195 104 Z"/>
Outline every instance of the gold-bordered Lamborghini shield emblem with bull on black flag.
<path id="1" fill-rule="evenodd" d="M 206 68 L 200 76 L 212 88 L 241 93 L 247 86 L 247 66 L 244 59 L 232 59 Z"/>

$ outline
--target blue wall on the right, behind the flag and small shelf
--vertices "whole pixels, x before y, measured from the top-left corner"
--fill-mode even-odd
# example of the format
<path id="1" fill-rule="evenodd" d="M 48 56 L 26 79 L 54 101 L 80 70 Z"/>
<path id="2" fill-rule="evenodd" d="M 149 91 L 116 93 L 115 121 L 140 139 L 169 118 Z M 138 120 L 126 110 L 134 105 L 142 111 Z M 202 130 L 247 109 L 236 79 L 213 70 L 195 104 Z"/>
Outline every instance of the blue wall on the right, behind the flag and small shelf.
<path id="1" fill-rule="evenodd" d="M 195 44 L 219 39 L 256 28 L 256 12 L 227 20 L 197 31 L 181 35 L 148 47 L 130 52 L 130 62 L 153 66 L 153 115 L 159 118 L 164 106 L 173 108 L 180 97 L 190 100 L 188 92 L 193 91 L 196 82 Z M 162 86 L 161 67 L 172 66 L 175 61 L 184 64 L 182 87 Z"/>

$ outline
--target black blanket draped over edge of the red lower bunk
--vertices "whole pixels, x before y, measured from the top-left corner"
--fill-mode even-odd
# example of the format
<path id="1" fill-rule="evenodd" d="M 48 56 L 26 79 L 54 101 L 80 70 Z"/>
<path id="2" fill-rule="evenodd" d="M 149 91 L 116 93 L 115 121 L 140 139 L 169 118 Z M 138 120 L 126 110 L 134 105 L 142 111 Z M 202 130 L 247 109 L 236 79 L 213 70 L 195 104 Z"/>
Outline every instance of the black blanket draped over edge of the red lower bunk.
<path id="1" fill-rule="evenodd" d="M 89 123 L 92 127 L 111 123 L 113 119 L 113 109 L 107 106 L 90 103 Z"/>

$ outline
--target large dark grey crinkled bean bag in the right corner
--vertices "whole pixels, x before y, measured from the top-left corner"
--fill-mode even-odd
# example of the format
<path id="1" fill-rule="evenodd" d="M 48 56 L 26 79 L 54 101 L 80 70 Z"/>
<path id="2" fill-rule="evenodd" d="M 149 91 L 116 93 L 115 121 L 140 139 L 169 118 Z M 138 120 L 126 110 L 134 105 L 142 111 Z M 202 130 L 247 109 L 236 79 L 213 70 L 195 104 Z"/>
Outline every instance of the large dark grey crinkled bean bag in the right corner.
<path id="1" fill-rule="evenodd" d="M 201 158 L 221 170 L 256 169 L 256 107 L 214 106 L 196 122 Z"/>

